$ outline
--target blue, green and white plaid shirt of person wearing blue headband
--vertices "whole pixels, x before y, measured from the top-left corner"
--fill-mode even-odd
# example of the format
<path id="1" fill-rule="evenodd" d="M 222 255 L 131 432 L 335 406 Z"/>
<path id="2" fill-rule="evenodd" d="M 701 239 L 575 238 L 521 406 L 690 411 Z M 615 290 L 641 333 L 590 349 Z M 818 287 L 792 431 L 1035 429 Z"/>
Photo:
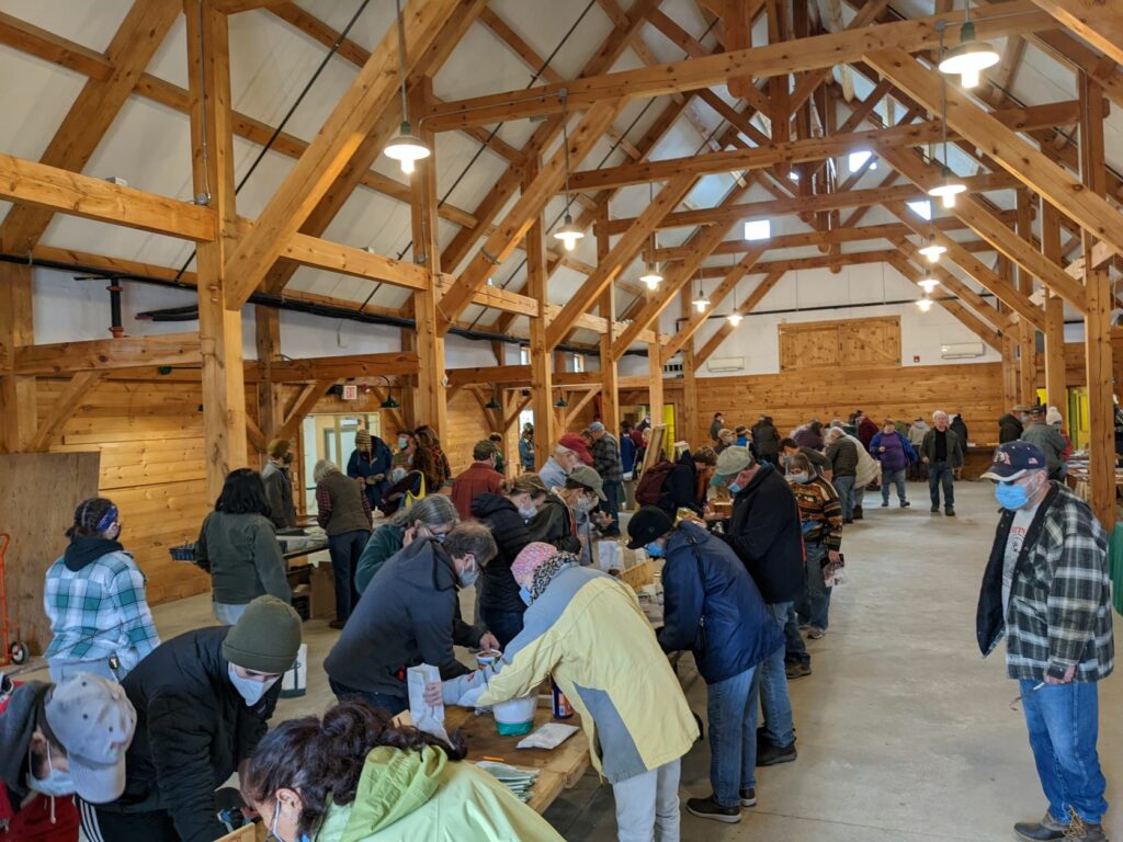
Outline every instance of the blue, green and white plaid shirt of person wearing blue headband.
<path id="1" fill-rule="evenodd" d="M 43 606 L 54 634 L 48 660 L 97 661 L 116 653 L 124 678 L 159 646 L 144 574 L 128 552 L 108 552 L 81 570 L 60 558 L 47 570 Z"/>

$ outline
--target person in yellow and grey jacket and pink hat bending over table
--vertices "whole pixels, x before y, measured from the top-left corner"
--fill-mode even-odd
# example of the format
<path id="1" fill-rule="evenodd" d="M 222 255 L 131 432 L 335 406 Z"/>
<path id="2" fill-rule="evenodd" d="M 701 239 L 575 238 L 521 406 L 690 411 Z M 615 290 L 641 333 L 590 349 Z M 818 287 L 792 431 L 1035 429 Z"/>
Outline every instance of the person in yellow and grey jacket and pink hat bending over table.
<path id="1" fill-rule="evenodd" d="M 679 762 L 699 729 L 636 592 L 547 543 L 527 544 L 511 573 L 524 625 L 476 704 L 529 696 L 551 676 L 612 784 L 620 842 L 677 842 Z M 463 684 L 445 681 L 446 704 Z"/>

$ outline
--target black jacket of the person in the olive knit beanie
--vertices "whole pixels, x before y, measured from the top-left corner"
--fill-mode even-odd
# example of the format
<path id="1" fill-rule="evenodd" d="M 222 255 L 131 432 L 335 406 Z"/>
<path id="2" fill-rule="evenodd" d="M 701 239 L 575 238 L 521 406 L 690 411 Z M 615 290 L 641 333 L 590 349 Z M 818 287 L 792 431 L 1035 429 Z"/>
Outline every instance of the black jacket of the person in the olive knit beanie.
<path id="1" fill-rule="evenodd" d="M 281 681 L 248 707 L 229 677 L 222 641 L 229 626 L 181 634 L 162 643 L 121 686 L 137 711 L 120 799 L 99 809 L 166 809 L 183 842 L 212 842 L 226 833 L 214 790 L 265 736 Z"/>

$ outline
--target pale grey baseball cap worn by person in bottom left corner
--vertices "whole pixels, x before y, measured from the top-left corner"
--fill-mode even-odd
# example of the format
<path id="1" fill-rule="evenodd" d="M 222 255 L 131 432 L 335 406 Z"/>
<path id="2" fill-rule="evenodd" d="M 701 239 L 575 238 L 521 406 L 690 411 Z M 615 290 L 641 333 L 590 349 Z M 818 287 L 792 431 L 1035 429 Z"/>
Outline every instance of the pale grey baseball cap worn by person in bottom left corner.
<path id="1" fill-rule="evenodd" d="M 125 791 L 125 752 L 137 712 L 119 684 L 79 672 L 51 692 L 47 727 L 66 750 L 74 791 L 90 804 L 108 804 Z"/>

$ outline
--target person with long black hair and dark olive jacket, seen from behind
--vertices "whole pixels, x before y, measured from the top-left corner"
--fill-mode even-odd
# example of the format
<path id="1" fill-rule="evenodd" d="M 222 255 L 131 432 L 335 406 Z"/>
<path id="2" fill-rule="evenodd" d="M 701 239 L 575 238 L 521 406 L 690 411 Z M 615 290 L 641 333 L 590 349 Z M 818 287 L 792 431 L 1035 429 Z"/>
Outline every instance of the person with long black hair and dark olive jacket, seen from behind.
<path id="1" fill-rule="evenodd" d="M 292 600 L 284 556 L 277 543 L 262 475 L 231 470 L 203 520 L 195 542 L 195 564 L 210 574 L 214 617 L 227 625 L 258 596 Z"/>

